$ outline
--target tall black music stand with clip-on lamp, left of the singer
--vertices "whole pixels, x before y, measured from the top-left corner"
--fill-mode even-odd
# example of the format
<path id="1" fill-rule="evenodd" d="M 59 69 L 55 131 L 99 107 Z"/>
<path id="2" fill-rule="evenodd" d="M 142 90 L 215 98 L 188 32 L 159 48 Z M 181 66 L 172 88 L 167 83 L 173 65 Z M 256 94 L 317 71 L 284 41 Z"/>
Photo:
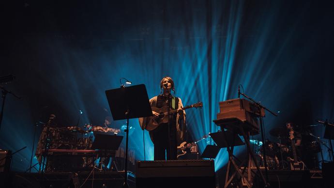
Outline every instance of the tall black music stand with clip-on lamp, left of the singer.
<path id="1" fill-rule="evenodd" d="M 125 145 L 125 168 L 124 188 L 127 184 L 127 163 L 128 163 L 128 140 L 129 140 L 129 119 L 152 116 L 152 109 L 149 96 L 144 84 L 106 90 L 106 98 L 109 103 L 113 119 L 126 121 L 126 145 Z"/>

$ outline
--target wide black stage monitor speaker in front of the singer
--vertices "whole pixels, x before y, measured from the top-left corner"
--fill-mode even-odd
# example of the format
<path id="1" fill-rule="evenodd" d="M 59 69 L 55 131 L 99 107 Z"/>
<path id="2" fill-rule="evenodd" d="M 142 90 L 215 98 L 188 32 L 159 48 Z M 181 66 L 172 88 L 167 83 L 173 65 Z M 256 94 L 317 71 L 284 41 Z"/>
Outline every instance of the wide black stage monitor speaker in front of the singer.
<path id="1" fill-rule="evenodd" d="M 138 161 L 137 188 L 214 188 L 213 160 Z"/>

